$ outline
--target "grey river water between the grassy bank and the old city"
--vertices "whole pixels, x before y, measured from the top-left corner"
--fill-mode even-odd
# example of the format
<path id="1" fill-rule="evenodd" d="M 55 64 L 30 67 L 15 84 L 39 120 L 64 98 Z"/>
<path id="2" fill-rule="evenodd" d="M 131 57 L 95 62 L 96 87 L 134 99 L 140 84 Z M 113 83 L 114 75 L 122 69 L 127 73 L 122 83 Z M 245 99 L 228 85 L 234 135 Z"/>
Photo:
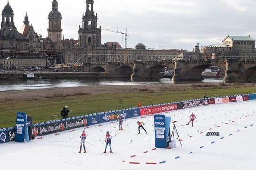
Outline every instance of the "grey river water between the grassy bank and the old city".
<path id="1" fill-rule="evenodd" d="M 205 79 L 202 83 L 220 83 L 223 79 Z M 164 84 L 174 83 L 170 78 L 162 78 L 159 81 L 141 81 L 131 82 L 130 79 L 125 80 L 88 80 L 88 79 L 33 79 L 22 81 L 0 81 L 0 91 L 17 91 L 44 89 L 54 87 L 78 87 L 87 85 L 143 85 L 143 84 Z"/>

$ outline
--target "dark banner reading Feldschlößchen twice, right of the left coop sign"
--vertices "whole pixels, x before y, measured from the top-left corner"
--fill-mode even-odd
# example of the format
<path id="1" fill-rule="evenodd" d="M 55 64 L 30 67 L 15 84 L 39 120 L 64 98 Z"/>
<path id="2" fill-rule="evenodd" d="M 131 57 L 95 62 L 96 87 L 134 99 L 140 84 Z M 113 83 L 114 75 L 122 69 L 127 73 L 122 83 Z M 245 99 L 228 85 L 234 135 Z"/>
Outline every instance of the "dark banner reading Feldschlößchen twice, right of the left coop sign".
<path id="1" fill-rule="evenodd" d="M 85 116 L 78 116 L 62 120 L 53 120 L 42 123 L 34 123 L 32 126 L 32 134 L 33 136 L 42 136 L 61 132 L 64 130 L 85 127 L 87 125 L 87 117 Z"/>

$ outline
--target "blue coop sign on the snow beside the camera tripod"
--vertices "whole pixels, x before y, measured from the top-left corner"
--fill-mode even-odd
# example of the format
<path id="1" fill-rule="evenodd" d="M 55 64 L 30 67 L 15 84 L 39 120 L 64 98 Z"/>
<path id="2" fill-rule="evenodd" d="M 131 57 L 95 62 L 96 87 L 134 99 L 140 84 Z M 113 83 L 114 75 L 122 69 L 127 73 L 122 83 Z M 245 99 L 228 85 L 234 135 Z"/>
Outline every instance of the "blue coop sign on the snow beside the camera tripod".
<path id="1" fill-rule="evenodd" d="M 165 115 L 154 115 L 155 147 L 166 148 L 170 140 L 171 117 Z"/>

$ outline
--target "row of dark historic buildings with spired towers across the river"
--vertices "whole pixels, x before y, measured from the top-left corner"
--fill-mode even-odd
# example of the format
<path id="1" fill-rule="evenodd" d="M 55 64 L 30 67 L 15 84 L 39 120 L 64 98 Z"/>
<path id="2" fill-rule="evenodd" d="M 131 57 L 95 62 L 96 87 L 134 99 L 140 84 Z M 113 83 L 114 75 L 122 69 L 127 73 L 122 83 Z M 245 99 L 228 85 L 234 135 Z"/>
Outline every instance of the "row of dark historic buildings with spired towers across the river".
<path id="1" fill-rule="evenodd" d="M 179 49 L 146 49 L 138 43 L 135 48 L 121 48 L 117 42 L 101 43 L 101 26 L 97 25 L 97 14 L 94 12 L 94 0 L 86 0 L 86 11 L 82 14 L 82 25 L 78 26 L 78 40 L 62 37 L 62 15 L 58 11 L 57 0 L 52 1 L 52 11 L 48 15 L 48 36 L 42 38 L 29 24 L 28 14 L 19 32 L 14 25 L 13 10 L 7 2 L 2 12 L 0 29 L 0 68 L 19 69 L 31 66 L 52 65 L 54 63 L 90 63 L 90 62 L 126 62 L 135 60 L 171 60 L 186 50 Z M 8 58 L 9 57 L 9 58 Z M 53 60 L 53 57 L 55 61 Z M 7 66 L 7 60 L 19 63 L 19 66 Z M 22 59 L 24 60 L 23 62 Z M 26 59 L 26 60 L 25 60 Z M 31 62 L 29 63 L 29 59 Z M 32 60 L 40 59 L 40 62 Z M 46 62 L 42 63 L 42 59 Z M 25 62 L 26 61 L 26 62 Z M 8 64 L 10 63 L 8 62 Z M 20 65 L 22 63 L 22 66 Z M 8 67 L 8 68 L 7 68 Z"/>

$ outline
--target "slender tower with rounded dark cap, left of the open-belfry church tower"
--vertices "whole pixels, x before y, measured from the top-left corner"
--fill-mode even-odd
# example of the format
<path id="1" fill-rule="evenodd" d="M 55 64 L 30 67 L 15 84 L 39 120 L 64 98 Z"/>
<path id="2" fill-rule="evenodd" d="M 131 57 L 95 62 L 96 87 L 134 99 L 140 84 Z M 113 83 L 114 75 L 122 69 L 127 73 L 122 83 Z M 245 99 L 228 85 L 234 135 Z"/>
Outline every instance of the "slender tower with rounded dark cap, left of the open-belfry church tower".
<path id="1" fill-rule="evenodd" d="M 62 36 L 61 36 L 61 13 L 58 11 L 58 2 L 53 0 L 52 11 L 49 13 L 49 27 L 48 27 L 48 37 L 56 44 L 56 48 L 59 49 L 61 46 Z"/>

